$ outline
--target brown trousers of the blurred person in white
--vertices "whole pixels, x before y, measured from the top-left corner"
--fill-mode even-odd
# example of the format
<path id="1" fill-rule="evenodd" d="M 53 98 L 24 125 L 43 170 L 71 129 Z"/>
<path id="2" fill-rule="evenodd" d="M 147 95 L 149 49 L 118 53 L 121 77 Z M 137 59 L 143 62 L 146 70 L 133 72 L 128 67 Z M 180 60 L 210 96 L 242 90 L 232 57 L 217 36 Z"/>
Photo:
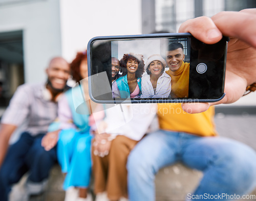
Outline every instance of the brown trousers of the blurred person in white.
<path id="1" fill-rule="evenodd" d="M 95 194 L 106 191 L 110 200 L 128 197 L 126 162 L 137 142 L 117 136 L 111 143 L 109 154 L 103 158 L 94 155 L 92 148 Z"/>

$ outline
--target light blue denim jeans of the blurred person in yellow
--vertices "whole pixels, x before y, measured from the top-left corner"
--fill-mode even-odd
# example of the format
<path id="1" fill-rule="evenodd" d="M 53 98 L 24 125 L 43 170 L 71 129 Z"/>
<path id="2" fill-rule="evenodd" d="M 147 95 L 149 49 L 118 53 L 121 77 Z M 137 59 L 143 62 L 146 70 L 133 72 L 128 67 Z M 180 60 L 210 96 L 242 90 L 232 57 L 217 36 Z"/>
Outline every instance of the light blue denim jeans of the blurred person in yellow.
<path id="1" fill-rule="evenodd" d="M 242 195 L 256 187 L 256 153 L 250 147 L 221 137 L 158 130 L 144 137 L 130 153 L 129 199 L 155 200 L 156 173 L 176 162 L 203 171 L 199 186 L 191 192 L 193 195 Z"/>

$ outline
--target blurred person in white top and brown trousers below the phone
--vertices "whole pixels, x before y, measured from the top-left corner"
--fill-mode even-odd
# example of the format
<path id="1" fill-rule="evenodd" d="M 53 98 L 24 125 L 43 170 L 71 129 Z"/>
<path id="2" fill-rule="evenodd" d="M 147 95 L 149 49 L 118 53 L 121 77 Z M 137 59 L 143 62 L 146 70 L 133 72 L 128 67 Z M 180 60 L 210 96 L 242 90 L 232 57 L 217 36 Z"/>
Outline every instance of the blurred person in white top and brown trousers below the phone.
<path id="1" fill-rule="evenodd" d="M 150 127 L 155 106 L 105 105 L 92 147 L 95 201 L 127 200 L 127 157 Z"/>

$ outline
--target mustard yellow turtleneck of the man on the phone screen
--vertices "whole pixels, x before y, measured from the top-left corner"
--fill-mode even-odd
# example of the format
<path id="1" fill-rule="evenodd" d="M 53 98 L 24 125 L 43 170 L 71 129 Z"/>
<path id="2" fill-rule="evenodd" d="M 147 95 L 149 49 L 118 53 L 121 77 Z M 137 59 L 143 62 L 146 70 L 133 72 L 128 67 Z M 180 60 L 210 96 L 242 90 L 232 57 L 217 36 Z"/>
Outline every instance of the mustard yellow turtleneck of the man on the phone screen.
<path id="1" fill-rule="evenodd" d="M 166 71 L 172 78 L 172 91 L 170 95 L 172 98 L 187 98 L 188 97 L 188 83 L 189 83 L 189 63 L 182 63 L 177 71 Z"/>

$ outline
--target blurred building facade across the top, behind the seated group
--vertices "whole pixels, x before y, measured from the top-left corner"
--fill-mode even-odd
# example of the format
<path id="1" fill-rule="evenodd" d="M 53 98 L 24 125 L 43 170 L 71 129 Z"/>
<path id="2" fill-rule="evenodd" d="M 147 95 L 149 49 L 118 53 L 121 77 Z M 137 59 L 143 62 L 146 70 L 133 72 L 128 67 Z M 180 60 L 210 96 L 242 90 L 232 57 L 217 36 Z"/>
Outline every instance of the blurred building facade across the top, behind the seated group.
<path id="1" fill-rule="evenodd" d="M 0 0 L 0 106 L 18 85 L 45 81 L 52 57 L 70 62 L 92 37 L 177 32 L 189 18 L 253 7 L 255 0 Z"/>

